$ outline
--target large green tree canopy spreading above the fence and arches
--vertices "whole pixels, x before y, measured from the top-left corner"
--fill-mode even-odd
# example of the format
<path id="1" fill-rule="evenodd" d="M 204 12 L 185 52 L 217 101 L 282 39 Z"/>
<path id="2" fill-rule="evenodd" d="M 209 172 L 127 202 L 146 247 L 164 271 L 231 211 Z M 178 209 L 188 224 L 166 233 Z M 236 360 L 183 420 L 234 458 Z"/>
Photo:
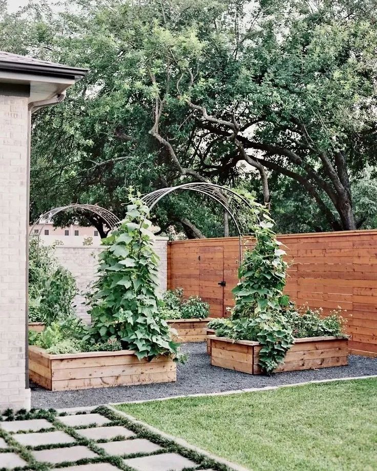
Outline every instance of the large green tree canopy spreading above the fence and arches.
<path id="1" fill-rule="evenodd" d="M 2 49 L 91 70 L 35 114 L 32 218 L 70 202 L 121 217 L 130 184 L 211 181 L 253 186 L 273 216 L 291 189 L 288 207 L 318 215 L 311 230 L 370 224 L 352 189 L 376 168 L 376 4 L 81 0 L 3 13 Z M 220 216 L 186 195 L 155 214 L 191 237 L 217 233 Z"/>

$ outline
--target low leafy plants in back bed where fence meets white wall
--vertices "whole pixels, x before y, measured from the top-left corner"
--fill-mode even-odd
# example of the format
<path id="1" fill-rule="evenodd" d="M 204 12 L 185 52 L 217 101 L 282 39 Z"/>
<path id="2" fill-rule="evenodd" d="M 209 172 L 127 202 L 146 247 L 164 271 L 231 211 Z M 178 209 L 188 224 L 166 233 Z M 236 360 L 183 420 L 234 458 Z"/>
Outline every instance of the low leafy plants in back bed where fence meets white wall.
<path id="1" fill-rule="evenodd" d="M 166 290 L 160 305 L 160 315 L 164 319 L 204 319 L 210 313 L 210 305 L 199 296 L 183 299 L 183 289 Z"/>

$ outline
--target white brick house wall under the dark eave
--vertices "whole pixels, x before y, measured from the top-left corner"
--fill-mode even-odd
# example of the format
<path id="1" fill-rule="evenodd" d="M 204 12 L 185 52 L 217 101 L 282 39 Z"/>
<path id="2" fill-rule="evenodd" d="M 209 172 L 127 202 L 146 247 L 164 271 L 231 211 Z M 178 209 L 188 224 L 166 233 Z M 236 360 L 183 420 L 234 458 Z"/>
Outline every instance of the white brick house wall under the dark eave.
<path id="1" fill-rule="evenodd" d="M 30 407 L 25 384 L 28 98 L 0 95 L 0 411 Z"/>

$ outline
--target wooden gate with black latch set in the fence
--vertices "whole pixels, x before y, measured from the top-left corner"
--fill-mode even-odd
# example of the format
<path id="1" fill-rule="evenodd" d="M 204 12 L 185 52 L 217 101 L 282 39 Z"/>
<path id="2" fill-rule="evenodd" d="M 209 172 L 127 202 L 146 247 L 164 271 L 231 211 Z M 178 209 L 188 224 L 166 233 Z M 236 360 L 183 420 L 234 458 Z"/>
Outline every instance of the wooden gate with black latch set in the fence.
<path id="1" fill-rule="evenodd" d="M 224 247 L 200 247 L 199 296 L 209 303 L 211 317 L 224 315 Z"/>

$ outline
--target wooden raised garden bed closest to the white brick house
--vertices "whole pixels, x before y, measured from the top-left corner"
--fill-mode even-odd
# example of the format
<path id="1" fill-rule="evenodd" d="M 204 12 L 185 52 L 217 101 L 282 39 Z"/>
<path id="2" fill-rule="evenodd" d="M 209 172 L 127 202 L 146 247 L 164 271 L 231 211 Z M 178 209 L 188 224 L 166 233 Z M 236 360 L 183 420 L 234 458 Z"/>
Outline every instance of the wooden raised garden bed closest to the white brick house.
<path id="1" fill-rule="evenodd" d="M 29 346 L 29 376 L 50 391 L 67 391 L 171 382 L 177 380 L 177 371 L 166 356 L 139 360 L 130 350 L 51 355 Z"/>

